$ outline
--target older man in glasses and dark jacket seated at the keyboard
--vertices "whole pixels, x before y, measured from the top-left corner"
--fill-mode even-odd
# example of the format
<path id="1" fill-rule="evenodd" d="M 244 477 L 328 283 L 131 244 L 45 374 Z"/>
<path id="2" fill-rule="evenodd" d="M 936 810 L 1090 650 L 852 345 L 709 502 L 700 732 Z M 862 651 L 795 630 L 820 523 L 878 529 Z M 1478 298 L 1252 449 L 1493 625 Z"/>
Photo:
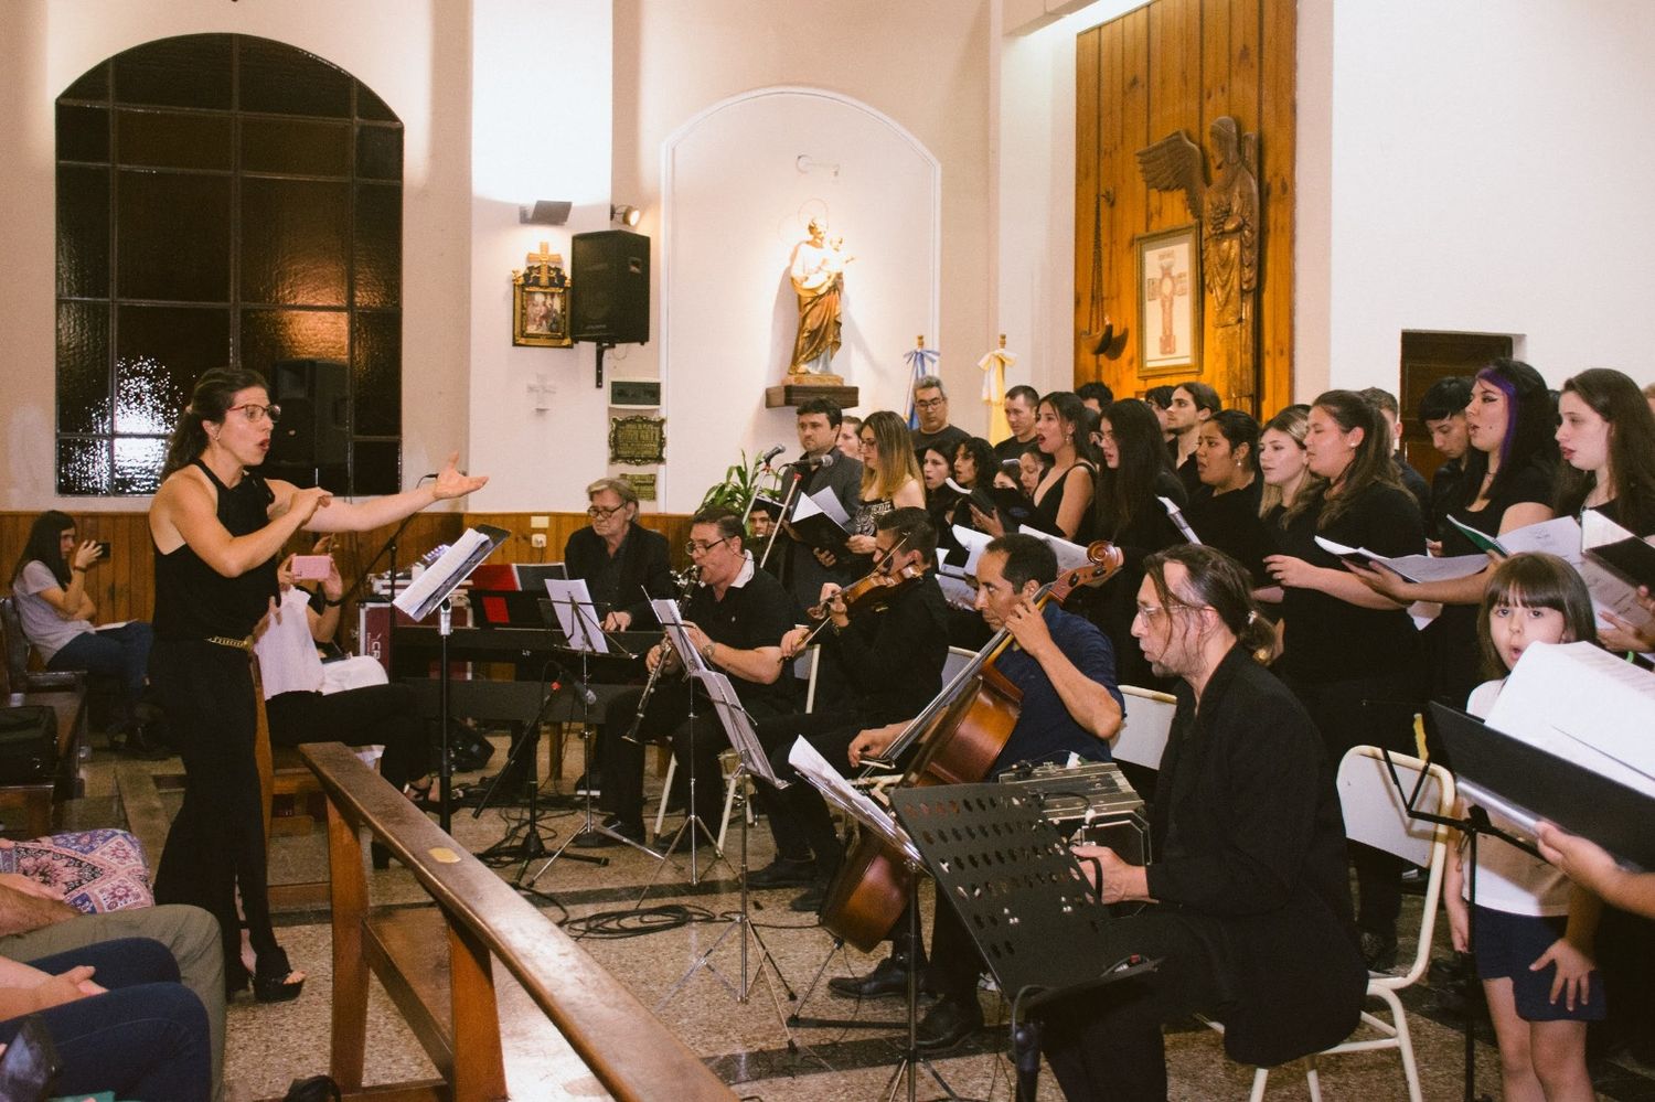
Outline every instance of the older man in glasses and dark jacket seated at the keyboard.
<path id="1" fill-rule="evenodd" d="M 650 597 L 672 597 L 667 538 L 637 520 L 637 493 L 621 478 L 599 478 L 586 486 L 586 515 L 563 546 L 569 577 L 584 577 L 592 604 L 604 612 L 606 632 L 655 627 Z M 645 596 L 647 594 L 647 596 Z"/>

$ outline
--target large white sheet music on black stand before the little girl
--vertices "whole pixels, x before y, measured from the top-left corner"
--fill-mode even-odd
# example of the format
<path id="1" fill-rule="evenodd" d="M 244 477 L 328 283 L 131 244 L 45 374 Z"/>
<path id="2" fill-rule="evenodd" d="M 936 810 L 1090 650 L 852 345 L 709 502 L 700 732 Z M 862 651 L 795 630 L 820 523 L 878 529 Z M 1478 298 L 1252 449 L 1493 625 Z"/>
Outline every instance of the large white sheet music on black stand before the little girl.
<path id="1" fill-rule="evenodd" d="M 1486 723 L 1655 798 L 1655 673 L 1592 644 L 1531 644 Z"/>

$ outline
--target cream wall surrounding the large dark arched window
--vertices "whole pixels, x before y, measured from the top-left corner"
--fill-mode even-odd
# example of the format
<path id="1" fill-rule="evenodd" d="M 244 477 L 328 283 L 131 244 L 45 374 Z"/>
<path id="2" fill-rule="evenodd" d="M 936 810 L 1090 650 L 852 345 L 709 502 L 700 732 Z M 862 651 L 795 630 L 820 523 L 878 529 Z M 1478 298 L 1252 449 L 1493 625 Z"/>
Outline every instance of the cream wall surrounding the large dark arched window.
<path id="1" fill-rule="evenodd" d="M 275 38 L 374 89 L 405 127 L 402 192 L 404 472 L 465 450 L 470 26 L 449 0 L 10 0 L 0 5 L 0 339 L 7 354 L 0 508 L 142 508 L 55 496 L 53 104 L 81 73 L 156 38 Z"/>

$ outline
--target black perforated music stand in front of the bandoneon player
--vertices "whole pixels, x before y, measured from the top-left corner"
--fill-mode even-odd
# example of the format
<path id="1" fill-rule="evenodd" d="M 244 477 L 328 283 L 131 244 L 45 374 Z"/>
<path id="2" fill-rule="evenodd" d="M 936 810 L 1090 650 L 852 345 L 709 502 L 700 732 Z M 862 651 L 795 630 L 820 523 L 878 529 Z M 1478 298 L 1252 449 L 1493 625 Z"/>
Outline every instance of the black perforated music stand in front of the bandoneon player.
<path id="1" fill-rule="evenodd" d="M 1109 910 L 1034 793 L 1008 784 L 947 784 L 890 789 L 890 806 L 960 925 L 983 953 L 1000 991 L 1011 999 L 1018 1099 L 1033 1102 L 1039 1077 L 1038 1006 L 1154 970 L 1125 958 L 1107 937 Z M 1106 961 L 1084 975 L 1077 961 Z M 914 985 L 914 970 L 909 970 Z M 914 1046 L 910 1031 L 909 1044 Z M 910 1059 L 917 1052 L 910 1051 Z M 904 1069 L 899 1069 L 899 1074 Z M 935 1076 L 935 1071 L 932 1072 Z M 914 1076 L 909 1072 L 909 1099 Z"/>

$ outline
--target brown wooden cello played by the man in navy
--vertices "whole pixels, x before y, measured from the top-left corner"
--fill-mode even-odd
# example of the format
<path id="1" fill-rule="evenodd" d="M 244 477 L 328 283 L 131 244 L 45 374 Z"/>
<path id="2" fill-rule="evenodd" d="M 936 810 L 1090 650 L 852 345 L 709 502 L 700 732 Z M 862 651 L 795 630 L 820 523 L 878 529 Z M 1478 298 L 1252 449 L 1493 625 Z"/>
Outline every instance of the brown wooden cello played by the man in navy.
<path id="1" fill-rule="evenodd" d="M 1051 601 L 1063 604 L 1076 589 L 1106 582 L 1124 561 L 1120 549 L 1107 541 L 1091 544 L 1087 558 L 1091 566 L 1061 571 L 1043 586 L 1033 597 L 1034 607 Z M 1008 629 L 995 632 L 862 776 L 890 768 L 915 745 L 919 750 L 899 786 L 975 784 L 988 776 L 1021 712 L 1021 693 L 995 668 L 1010 642 Z M 871 953 L 907 907 L 912 882 L 912 865 L 871 831 L 862 831 L 828 885 L 821 923 L 836 938 Z"/>

